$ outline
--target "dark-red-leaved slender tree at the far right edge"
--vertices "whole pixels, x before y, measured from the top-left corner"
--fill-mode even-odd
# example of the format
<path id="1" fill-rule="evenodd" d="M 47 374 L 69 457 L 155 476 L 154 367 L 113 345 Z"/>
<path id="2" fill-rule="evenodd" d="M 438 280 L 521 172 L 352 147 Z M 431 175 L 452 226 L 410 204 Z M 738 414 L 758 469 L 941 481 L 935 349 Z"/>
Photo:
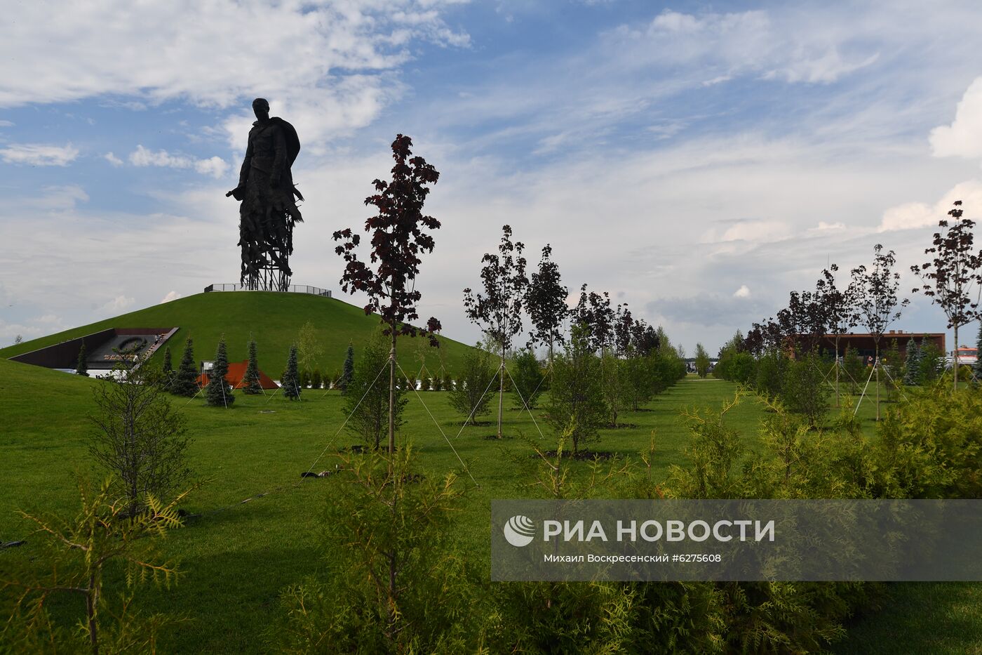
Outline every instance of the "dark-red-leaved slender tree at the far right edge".
<path id="1" fill-rule="evenodd" d="M 975 236 L 972 229 L 975 221 L 962 217 L 961 201 L 955 201 L 955 208 L 948 212 L 953 220 L 938 221 L 939 227 L 947 228 L 945 234 L 934 233 L 933 245 L 924 251 L 932 255 L 930 262 L 910 270 L 924 280 L 920 290 L 931 301 L 941 307 L 948 317 L 948 327 L 955 330 L 955 357 L 953 358 L 953 388 L 958 389 L 958 328 L 967 326 L 980 318 L 978 294 L 975 289 L 982 286 L 982 251 L 974 249 Z M 912 293 L 917 293 L 913 289 Z"/>

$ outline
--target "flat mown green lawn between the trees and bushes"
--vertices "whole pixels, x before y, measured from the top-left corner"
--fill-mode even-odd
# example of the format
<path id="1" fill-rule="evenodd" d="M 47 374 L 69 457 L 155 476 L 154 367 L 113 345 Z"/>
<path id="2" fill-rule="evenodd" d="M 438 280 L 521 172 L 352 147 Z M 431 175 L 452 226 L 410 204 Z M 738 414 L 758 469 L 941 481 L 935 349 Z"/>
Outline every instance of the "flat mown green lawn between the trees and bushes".
<path id="1" fill-rule="evenodd" d="M 98 384 L 0 360 L 0 541 L 28 542 L 0 552 L 0 558 L 29 558 L 33 552 L 37 537 L 16 509 L 71 514 L 77 504 L 77 475 L 98 475 L 86 454 L 85 418 L 93 410 L 90 387 Z M 685 462 L 688 432 L 681 412 L 719 406 L 734 391 L 727 382 L 690 377 L 656 397 L 644 411 L 626 412 L 621 420 L 629 427 L 604 431 L 602 441 L 591 447 L 633 457 L 649 445 L 653 434 L 654 475 L 664 478 L 671 464 Z M 423 474 L 461 475 L 467 492 L 457 536 L 468 557 L 483 566 L 482 583 L 490 585 L 490 501 L 534 493 L 518 465 L 533 461 L 534 453 L 521 439 L 484 439 L 494 434 L 489 423 L 462 431 L 463 417 L 450 408 L 446 393 L 421 395 L 447 439 L 420 400 L 411 396 L 400 442 L 410 441 L 417 448 Z M 162 545 L 165 556 L 181 564 L 177 586 L 143 587 L 140 608 L 191 618 L 167 633 L 162 652 L 265 652 L 264 630 L 278 611 L 280 591 L 316 573 L 330 557 L 320 525 L 324 507 L 339 490 L 332 478 L 300 483 L 300 472 L 321 452 L 324 456 L 314 470 L 331 468 L 332 452 L 357 443 L 346 431 L 338 434 L 343 400 L 335 391 L 308 390 L 302 402 L 239 394 L 229 410 L 207 407 L 201 399 L 174 402 L 183 406 L 195 440 L 190 453 L 195 475 L 208 482 L 186 507 L 200 517 L 189 519 Z M 512 404 L 508 394 L 506 407 Z M 872 409 L 865 405 L 861 411 L 869 418 Z M 728 415 L 748 447 L 757 447 L 754 435 L 763 411 L 746 399 Z M 483 417 L 485 422 L 490 419 Z M 871 421 L 867 424 L 872 426 Z M 555 438 L 541 420 L 539 427 L 544 437 L 527 412 L 506 411 L 506 435 L 520 433 L 544 448 L 555 447 Z M 447 440 L 479 486 L 470 481 Z M 585 470 L 587 464 L 575 467 Z M 272 493 L 241 503 L 266 492 Z M 891 594 L 882 611 L 852 622 L 849 639 L 838 644 L 836 652 L 982 652 L 982 586 L 894 585 Z M 65 599 L 59 615 L 65 620 L 77 617 L 80 603 Z"/>

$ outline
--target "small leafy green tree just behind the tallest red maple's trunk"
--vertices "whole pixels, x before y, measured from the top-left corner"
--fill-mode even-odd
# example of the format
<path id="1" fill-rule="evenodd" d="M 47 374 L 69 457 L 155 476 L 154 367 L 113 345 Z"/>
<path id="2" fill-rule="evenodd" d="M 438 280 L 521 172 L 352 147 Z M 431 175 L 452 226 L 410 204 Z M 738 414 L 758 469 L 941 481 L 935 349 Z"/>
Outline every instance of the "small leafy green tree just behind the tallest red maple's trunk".
<path id="1" fill-rule="evenodd" d="M 354 348 L 352 348 L 354 352 Z M 389 387 L 382 371 L 389 359 L 385 335 L 376 331 L 365 343 L 352 368 L 352 377 L 345 392 L 342 408 L 348 417 L 346 428 L 355 433 L 366 446 L 378 448 L 388 427 Z M 396 388 L 396 429 L 403 425 L 403 410 L 409 398 L 405 389 Z"/>

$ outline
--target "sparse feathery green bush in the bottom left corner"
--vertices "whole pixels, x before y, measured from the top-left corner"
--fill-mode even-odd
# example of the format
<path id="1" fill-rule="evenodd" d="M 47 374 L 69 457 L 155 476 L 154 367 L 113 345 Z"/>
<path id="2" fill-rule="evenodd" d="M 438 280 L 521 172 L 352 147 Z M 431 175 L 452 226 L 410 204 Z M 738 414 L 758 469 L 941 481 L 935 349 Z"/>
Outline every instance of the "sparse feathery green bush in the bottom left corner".
<path id="1" fill-rule="evenodd" d="M 96 486 L 80 478 L 81 507 L 74 515 L 21 512 L 36 529 L 29 564 L 25 558 L 0 566 L 0 652 L 155 652 L 162 629 L 185 620 L 146 615 L 134 601 L 147 580 L 170 585 L 177 578 L 158 542 L 181 527 L 177 506 L 186 494 L 166 505 L 147 497 L 133 515 L 118 487 L 111 479 Z M 52 617 L 73 613 L 75 629 Z"/>

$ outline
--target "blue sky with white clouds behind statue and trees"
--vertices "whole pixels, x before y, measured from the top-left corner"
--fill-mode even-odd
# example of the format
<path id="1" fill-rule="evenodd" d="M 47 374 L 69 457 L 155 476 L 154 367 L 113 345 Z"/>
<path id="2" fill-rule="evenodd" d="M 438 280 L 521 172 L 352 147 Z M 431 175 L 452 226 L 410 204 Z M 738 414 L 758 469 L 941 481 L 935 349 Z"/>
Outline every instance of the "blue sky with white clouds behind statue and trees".
<path id="1" fill-rule="evenodd" d="M 237 281 L 257 95 L 302 142 L 295 282 L 337 292 L 330 234 L 409 134 L 442 174 L 420 314 L 467 341 L 505 223 L 715 352 L 828 263 L 906 270 L 953 201 L 982 213 L 976 3 L 78 4 L 0 26 L 0 343 Z M 945 321 L 915 297 L 896 327 Z"/>

